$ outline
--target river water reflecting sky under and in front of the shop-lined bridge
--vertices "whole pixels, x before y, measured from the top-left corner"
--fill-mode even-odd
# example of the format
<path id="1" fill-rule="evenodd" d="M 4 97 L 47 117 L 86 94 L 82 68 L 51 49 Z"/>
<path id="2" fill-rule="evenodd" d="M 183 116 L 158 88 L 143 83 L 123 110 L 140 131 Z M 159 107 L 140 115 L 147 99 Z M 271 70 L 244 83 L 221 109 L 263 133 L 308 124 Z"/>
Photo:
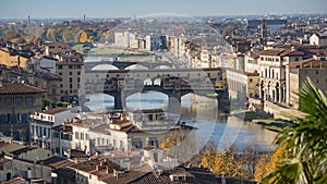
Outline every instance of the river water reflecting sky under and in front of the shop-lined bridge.
<path id="1" fill-rule="evenodd" d="M 113 109 L 113 98 L 102 94 L 87 95 L 86 106 L 93 111 L 102 112 Z M 164 109 L 168 110 L 168 97 L 165 94 L 149 91 L 135 94 L 126 98 L 126 110 Z M 206 97 L 186 95 L 182 97 L 181 115 L 179 120 L 186 125 L 195 126 L 196 138 L 202 143 L 211 142 L 218 148 L 235 145 L 242 150 L 247 145 L 255 146 L 262 151 L 271 150 L 275 132 L 267 131 L 261 125 L 243 122 L 235 116 L 221 116 L 217 101 Z"/>

